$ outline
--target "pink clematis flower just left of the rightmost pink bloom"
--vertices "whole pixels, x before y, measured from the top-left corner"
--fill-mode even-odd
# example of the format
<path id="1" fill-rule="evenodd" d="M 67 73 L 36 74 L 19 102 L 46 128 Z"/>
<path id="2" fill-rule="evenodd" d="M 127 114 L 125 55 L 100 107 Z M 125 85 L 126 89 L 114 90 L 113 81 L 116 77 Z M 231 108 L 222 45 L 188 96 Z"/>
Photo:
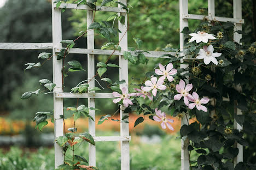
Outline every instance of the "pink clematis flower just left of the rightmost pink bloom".
<path id="1" fill-rule="evenodd" d="M 174 100 L 181 100 L 183 96 L 185 105 L 189 106 L 188 97 L 193 98 L 193 96 L 188 92 L 192 89 L 192 87 L 193 87 L 192 84 L 187 84 L 187 86 L 185 87 L 185 82 L 183 80 L 179 81 L 179 84 L 176 84 L 176 90 L 180 94 L 174 95 Z"/>

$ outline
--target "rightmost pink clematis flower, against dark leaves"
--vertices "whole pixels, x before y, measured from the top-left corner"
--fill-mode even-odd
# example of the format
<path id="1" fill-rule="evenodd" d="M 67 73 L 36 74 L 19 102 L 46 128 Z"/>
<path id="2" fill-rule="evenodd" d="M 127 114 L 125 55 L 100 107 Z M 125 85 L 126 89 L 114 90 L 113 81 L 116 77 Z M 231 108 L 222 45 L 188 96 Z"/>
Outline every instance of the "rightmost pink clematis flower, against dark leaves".
<path id="1" fill-rule="evenodd" d="M 189 104 L 189 108 L 193 109 L 195 106 L 197 108 L 197 110 L 202 110 L 203 112 L 207 112 L 207 108 L 201 104 L 207 104 L 210 99 L 208 98 L 202 98 L 201 100 L 199 100 L 199 95 L 196 92 L 192 93 L 192 97 L 188 97 L 189 101 L 193 102 L 191 104 Z"/>

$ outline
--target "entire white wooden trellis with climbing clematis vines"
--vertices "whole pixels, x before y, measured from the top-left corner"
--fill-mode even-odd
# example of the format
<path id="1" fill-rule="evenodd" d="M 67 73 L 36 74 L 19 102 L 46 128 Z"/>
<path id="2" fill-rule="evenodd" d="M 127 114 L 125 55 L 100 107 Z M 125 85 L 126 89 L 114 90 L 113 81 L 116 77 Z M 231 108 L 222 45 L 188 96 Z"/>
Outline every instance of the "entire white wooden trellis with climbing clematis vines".
<path id="1" fill-rule="evenodd" d="M 126 4 L 126 0 L 119 0 L 119 2 Z M 215 16 L 214 9 L 214 0 L 208 0 L 208 16 L 203 15 L 195 15 L 188 13 L 188 0 L 179 0 L 179 17 L 180 17 L 180 31 L 184 27 L 188 27 L 188 19 L 202 20 L 206 18 L 207 20 L 218 20 L 220 22 L 234 22 L 235 30 L 242 30 L 242 23 L 244 20 L 242 19 L 242 2 L 241 0 L 233 0 L 234 2 L 234 17 L 219 17 Z M 87 23 L 88 26 L 93 20 L 94 11 L 88 7 L 88 5 L 77 5 L 77 4 L 65 4 L 62 3 L 60 7 L 57 9 L 56 4 L 54 4 L 54 0 L 52 0 L 52 13 L 53 13 L 53 43 L 0 43 L 0 50 L 43 50 L 43 49 L 53 49 L 53 80 L 56 84 L 56 87 L 62 86 L 62 60 L 57 60 L 57 53 L 59 53 L 62 49 L 60 41 L 62 40 L 62 31 L 61 31 L 61 8 L 67 9 L 79 9 L 79 10 L 88 10 L 87 12 Z M 97 7 L 99 9 L 99 7 Z M 98 50 L 94 49 L 94 31 L 89 31 L 88 35 L 88 48 L 71 48 L 69 53 L 78 53 L 78 54 L 88 54 L 88 78 L 91 78 L 95 74 L 94 68 L 94 54 L 106 54 L 110 55 L 118 55 L 119 56 L 119 80 L 125 80 L 126 84 L 121 84 L 120 88 L 127 88 L 128 84 L 128 63 L 127 60 L 123 58 L 123 51 L 127 50 L 127 14 L 126 10 L 119 7 L 102 7 L 98 11 L 109 11 L 116 12 L 119 15 L 123 15 L 125 17 L 125 25 L 122 25 L 119 22 L 119 29 L 121 33 L 119 33 L 120 46 L 122 51 L 113 51 L 113 50 Z M 184 34 L 180 33 L 180 48 L 181 50 L 184 47 Z M 239 43 L 242 38 L 241 34 L 234 33 L 234 40 Z M 175 55 L 174 52 L 156 52 L 149 51 L 146 53 L 146 57 L 160 57 L 163 54 L 172 54 Z M 168 58 L 168 57 L 163 57 Z M 182 62 L 182 61 L 181 61 Z M 187 68 L 188 65 L 181 64 L 181 68 Z M 95 81 L 89 82 L 90 87 L 94 87 Z M 237 90 L 240 90 L 241 87 L 237 87 Z M 109 93 L 64 93 L 61 88 L 54 89 L 54 118 L 55 118 L 55 138 L 59 136 L 63 136 L 63 119 L 60 118 L 60 115 L 63 115 L 63 98 L 88 98 L 89 107 L 95 107 L 95 99 L 96 98 L 113 98 L 112 94 Z M 225 99 L 226 100 L 226 99 Z M 124 110 L 124 106 L 121 106 L 121 110 Z M 95 119 L 95 111 L 90 110 L 90 116 Z M 235 107 L 235 114 L 242 114 L 241 110 Z M 127 115 L 127 113 L 123 113 L 120 111 L 120 119 Z M 188 115 L 187 115 L 188 116 Z M 182 118 L 182 125 L 188 124 L 187 118 Z M 128 119 L 128 118 L 127 118 Z M 242 127 L 235 122 L 235 128 L 241 130 Z M 121 142 L 121 169 L 126 170 L 130 169 L 130 151 L 129 151 L 129 141 L 131 137 L 129 136 L 129 124 L 121 123 L 120 125 L 120 136 L 95 136 L 95 122 L 89 120 L 89 133 L 94 137 L 96 142 L 98 141 L 120 141 Z M 188 151 L 189 141 L 182 140 L 182 152 L 181 152 L 181 169 L 189 170 L 189 151 Z M 240 144 L 236 144 L 239 149 L 238 155 L 234 160 L 234 163 L 241 162 L 243 159 L 243 147 Z M 55 143 L 55 168 L 59 165 L 62 165 L 64 162 L 63 150 L 59 145 Z M 89 144 L 89 165 L 96 166 L 96 148 L 94 145 Z"/>

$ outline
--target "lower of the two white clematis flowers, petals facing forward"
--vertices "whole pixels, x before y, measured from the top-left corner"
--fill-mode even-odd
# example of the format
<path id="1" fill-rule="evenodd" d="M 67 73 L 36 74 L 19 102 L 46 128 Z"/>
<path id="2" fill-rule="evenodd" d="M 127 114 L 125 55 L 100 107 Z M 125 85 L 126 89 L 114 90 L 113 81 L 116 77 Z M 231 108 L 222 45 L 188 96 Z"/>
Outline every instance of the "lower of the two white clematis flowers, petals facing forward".
<path id="1" fill-rule="evenodd" d="M 213 52 L 214 48 L 212 45 L 203 46 L 203 49 L 200 49 L 199 55 L 196 57 L 196 59 L 203 59 L 203 62 L 207 65 L 211 62 L 213 62 L 215 65 L 218 65 L 218 61 L 216 57 L 219 57 L 222 55 L 222 53 Z"/>

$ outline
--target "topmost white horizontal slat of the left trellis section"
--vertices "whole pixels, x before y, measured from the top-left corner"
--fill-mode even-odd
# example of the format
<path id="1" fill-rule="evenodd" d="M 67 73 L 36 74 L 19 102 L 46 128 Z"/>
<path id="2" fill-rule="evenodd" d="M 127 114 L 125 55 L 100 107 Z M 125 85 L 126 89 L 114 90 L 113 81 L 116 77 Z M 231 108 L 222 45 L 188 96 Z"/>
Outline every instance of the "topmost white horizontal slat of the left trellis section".
<path id="1" fill-rule="evenodd" d="M 54 8 L 56 8 L 56 4 L 54 5 Z M 88 5 L 77 5 L 77 4 L 67 4 L 67 3 L 62 3 L 59 8 L 93 10 Z M 97 11 L 108 11 L 108 12 L 114 12 L 114 13 L 126 13 L 125 9 L 121 9 L 118 7 L 97 6 L 96 10 Z"/>

